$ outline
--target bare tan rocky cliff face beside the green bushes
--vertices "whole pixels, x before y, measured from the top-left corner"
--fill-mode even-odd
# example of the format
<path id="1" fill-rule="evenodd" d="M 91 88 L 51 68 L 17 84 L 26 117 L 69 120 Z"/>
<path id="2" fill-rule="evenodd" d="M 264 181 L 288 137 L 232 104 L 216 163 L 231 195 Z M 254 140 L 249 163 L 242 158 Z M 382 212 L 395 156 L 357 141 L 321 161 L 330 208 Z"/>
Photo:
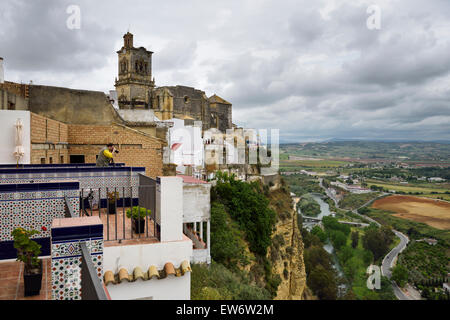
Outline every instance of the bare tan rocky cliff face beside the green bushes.
<path id="1" fill-rule="evenodd" d="M 297 223 L 295 204 L 289 191 L 280 188 L 269 196 L 272 209 L 277 213 L 276 231 L 268 259 L 272 261 L 273 273 L 281 277 L 276 300 L 309 299 L 306 288 L 306 271 L 303 261 L 303 240 Z"/>

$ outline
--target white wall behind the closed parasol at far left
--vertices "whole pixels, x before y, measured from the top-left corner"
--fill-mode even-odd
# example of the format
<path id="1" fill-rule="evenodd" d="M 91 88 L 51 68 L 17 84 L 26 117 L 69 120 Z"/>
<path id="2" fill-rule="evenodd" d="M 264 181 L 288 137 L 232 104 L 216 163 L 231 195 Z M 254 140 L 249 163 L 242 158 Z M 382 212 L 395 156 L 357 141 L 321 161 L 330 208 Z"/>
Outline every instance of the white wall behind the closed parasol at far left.
<path id="1" fill-rule="evenodd" d="M 1 61 L 1 60 L 0 60 Z M 16 158 L 13 155 L 16 146 L 16 121 L 22 119 L 23 124 L 23 148 L 25 155 L 19 163 L 30 163 L 31 137 L 30 137 L 30 112 L 16 110 L 0 110 L 0 163 L 15 164 Z"/>

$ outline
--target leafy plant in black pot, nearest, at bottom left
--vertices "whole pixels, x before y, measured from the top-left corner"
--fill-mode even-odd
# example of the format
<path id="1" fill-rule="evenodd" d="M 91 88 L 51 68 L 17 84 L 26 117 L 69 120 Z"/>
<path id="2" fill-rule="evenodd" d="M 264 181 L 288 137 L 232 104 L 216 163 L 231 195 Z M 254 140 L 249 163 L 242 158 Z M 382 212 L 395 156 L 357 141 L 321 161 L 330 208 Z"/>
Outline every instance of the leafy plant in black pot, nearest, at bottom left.
<path id="1" fill-rule="evenodd" d="M 47 229 L 42 227 L 43 231 Z M 38 257 L 41 254 L 41 245 L 30 238 L 40 232 L 37 230 L 25 230 L 16 228 L 11 232 L 14 238 L 14 248 L 17 249 L 17 261 L 25 264 L 23 272 L 23 282 L 25 296 L 38 295 L 41 291 L 42 283 L 42 260 Z"/>

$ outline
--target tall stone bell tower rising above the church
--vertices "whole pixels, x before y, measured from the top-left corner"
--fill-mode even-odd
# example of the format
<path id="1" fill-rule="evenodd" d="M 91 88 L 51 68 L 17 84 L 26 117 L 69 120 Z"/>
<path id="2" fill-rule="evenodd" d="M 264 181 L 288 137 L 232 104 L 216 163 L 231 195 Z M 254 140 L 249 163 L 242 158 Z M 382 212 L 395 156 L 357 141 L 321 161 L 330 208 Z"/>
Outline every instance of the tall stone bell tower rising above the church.
<path id="1" fill-rule="evenodd" d="M 149 109 L 155 87 L 152 54 L 144 47 L 135 48 L 130 32 L 123 36 L 123 47 L 117 51 L 119 77 L 115 83 L 120 109 Z"/>

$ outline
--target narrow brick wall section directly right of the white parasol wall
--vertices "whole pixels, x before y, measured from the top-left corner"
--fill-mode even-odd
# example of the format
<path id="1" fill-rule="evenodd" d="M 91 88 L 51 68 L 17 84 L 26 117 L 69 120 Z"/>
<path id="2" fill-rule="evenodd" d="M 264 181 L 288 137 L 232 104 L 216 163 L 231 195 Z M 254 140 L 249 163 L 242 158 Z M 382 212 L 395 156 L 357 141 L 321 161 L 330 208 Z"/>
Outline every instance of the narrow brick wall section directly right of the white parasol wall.
<path id="1" fill-rule="evenodd" d="M 31 113 L 31 163 L 69 163 L 68 126 Z M 62 143 L 62 144 L 61 144 Z"/>

